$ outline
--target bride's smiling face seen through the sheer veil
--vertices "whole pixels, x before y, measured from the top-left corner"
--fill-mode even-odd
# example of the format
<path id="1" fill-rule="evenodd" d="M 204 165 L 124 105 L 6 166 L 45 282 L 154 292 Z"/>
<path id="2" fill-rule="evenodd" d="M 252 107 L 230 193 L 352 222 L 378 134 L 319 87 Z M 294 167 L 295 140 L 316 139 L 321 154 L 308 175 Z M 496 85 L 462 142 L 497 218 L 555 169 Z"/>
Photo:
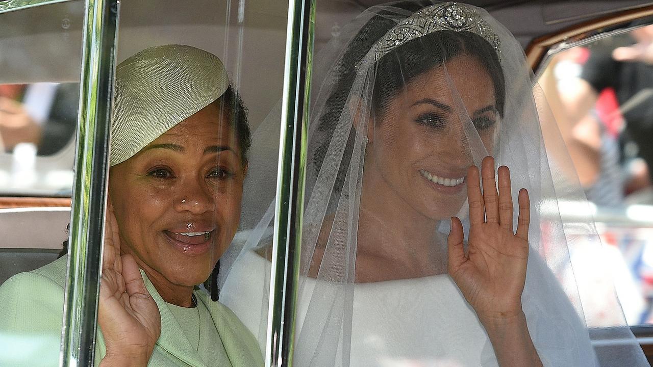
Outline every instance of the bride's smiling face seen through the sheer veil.
<path id="1" fill-rule="evenodd" d="M 458 56 L 413 78 L 386 106 L 366 150 L 373 169 L 422 215 L 456 215 L 473 157 L 492 152 L 500 117 L 492 78 L 475 57 Z"/>

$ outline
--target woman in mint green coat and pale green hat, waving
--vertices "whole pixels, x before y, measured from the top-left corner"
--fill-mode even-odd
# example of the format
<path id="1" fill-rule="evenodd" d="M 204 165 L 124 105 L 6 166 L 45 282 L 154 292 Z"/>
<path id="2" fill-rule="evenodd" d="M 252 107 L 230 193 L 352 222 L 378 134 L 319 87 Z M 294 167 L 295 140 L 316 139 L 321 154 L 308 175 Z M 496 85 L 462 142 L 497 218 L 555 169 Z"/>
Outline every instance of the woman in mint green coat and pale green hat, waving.
<path id="1" fill-rule="evenodd" d="M 240 218 L 249 128 L 221 61 L 148 48 L 116 70 L 96 366 L 257 366 L 253 336 L 197 285 Z M 2 366 L 57 366 L 66 258 L 0 287 Z"/>

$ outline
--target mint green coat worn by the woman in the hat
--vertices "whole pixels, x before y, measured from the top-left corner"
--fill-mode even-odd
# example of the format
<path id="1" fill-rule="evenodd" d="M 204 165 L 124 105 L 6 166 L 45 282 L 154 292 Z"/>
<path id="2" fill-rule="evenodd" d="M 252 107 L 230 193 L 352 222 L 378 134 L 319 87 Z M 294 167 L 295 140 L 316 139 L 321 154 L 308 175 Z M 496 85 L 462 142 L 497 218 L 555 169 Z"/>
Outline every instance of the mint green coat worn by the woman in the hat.
<path id="1" fill-rule="evenodd" d="M 32 272 L 17 274 L 0 287 L 0 366 L 59 366 L 66 261 L 67 257 L 62 257 Z M 191 347 L 163 298 L 150 280 L 143 278 L 161 312 L 161 336 L 148 366 L 213 367 Z M 238 317 L 227 306 L 212 302 L 205 292 L 196 291 L 195 296 L 211 313 L 231 365 L 263 366 L 257 342 Z M 98 328 L 95 366 L 105 350 Z"/>

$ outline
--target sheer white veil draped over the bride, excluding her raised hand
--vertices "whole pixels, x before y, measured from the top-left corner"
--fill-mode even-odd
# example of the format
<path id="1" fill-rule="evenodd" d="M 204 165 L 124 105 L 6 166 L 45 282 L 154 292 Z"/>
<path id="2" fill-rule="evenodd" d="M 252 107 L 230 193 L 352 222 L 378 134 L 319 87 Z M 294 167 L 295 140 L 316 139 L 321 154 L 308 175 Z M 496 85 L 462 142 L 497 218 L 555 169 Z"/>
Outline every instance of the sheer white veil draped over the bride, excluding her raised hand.
<path id="1" fill-rule="evenodd" d="M 522 308 L 545 366 L 648 366 L 556 123 L 505 27 L 462 3 L 390 3 L 343 27 L 316 60 L 296 366 L 498 366 L 447 275 L 450 217 L 469 233 L 466 172 L 486 155 L 510 168 L 513 202 L 530 193 Z M 278 124 L 275 110 L 253 136 L 244 231 L 221 274 L 220 300 L 261 345 Z"/>

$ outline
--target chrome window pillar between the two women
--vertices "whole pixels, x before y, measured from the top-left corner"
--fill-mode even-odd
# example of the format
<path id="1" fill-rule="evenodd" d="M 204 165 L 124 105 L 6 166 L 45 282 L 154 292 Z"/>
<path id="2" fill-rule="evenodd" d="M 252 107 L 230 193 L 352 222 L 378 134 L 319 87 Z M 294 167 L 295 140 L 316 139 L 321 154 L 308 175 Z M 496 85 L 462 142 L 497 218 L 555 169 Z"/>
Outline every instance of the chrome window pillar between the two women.
<path id="1" fill-rule="evenodd" d="M 315 0 L 288 8 L 266 367 L 293 365 Z"/>

